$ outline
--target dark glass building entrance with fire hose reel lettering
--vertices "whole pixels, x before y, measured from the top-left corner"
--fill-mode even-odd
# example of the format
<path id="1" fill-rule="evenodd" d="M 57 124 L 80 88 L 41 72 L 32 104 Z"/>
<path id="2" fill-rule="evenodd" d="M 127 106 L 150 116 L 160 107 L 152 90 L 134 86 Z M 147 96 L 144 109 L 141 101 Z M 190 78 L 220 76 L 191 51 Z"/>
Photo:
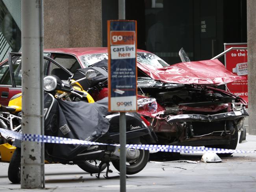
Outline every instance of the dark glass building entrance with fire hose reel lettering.
<path id="1" fill-rule="evenodd" d="M 246 14 L 246 0 L 126 0 L 126 19 L 137 20 L 137 48 L 170 65 L 181 62 L 182 47 L 198 61 L 223 52 L 224 42 L 247 42 Z M 118 19 L 118 0 L 102 1 L 103 46 L 108 19 Z"/>

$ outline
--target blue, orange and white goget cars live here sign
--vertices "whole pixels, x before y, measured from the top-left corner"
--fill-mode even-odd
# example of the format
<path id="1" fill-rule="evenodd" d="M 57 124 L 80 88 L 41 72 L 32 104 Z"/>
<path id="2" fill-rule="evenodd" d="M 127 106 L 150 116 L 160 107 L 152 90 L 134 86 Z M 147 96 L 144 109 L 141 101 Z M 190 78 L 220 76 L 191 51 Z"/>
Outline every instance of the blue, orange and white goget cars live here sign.
<path id="1" fill-rule="evenodd" d="M 137 23 L 108 20 L 109 111 L 137 111 Z"/>

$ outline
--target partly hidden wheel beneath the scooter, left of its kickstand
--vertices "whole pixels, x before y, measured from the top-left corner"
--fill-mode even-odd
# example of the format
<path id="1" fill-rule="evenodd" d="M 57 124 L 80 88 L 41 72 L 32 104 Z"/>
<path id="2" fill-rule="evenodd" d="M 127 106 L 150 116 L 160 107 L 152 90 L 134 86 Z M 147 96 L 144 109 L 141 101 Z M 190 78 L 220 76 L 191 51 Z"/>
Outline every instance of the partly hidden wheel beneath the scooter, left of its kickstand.
<path id="1" fill-rule="evenodd" d="M 85 161 L 82 164 L 78 164 L 78 166 L 85 172 L 88 172 L 90 174 L 97 174 L 100 169 L 99 164 L 100 164 L 100 161 L 90 160 L 90 161 Z M 100 172 L 102 172 L 106 168 L 106 166 L 107 166 L 106 163 L 104 163 L 100 169 Z"/>

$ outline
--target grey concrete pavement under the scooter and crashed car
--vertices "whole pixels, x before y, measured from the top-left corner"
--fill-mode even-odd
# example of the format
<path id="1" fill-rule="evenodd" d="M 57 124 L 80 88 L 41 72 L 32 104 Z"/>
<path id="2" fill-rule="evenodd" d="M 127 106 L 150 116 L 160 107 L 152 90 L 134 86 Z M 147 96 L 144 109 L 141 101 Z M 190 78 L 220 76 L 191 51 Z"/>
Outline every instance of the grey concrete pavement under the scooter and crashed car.
<path id="1" fill-rule="evenodd" d="M 256 136 L 247 135 L 247 141 L 237 145 L 240 150 L 256 150 Z M 148 162 L 138 174 L 128 175 L 127 192 L 255 192 L 256 153 L 234 154 L 222 158 L 221 163 L 201 162 L 201 155 L 181 155 L 187 162 Z M 76 165 L 46 164 L 45 189 L 20 189 L 11 184 L 7 177 L 7 163 L 0 163 L 0 192 L 11 190 L 33 192 L 91 192 L 119 191 L 119 179 L 97 179 Z M 118 172 L 111 166 L 113 173 Z"/>

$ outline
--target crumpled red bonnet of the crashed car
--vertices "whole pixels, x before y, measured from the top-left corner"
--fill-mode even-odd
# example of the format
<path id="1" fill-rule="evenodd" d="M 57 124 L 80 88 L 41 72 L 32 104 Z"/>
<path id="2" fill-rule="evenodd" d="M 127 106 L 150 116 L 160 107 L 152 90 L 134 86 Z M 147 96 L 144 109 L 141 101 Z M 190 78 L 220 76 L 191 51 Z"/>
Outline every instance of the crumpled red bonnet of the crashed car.
<path id="1" fill-rule="evenodd" d="M 165 83 L 222 85 L 245 79 L 226 70 L 218 59 L 177 63 L 161 68 L 143 63 L 137 63 L 137 66 L 152 79 Z"/>

